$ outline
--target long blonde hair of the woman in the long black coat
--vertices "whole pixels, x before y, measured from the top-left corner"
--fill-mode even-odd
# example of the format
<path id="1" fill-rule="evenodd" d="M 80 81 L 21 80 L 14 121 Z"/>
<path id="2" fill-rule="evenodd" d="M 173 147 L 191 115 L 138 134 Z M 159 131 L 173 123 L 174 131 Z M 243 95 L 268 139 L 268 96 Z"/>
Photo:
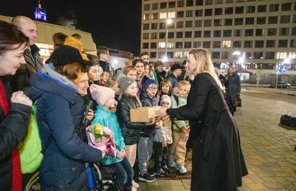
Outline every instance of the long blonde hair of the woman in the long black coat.
<path id="1" fill-rule="evenodd" d="M 219 87 L 223 89 L 223 86 L 215 73 L 215 68 L 211 59 L 211 53 L 204 48 L 195 48 L 190 50 L 189 54 L 193 54 L 196 60 L 194 75 L 207 72 L 215 79 Z"/>

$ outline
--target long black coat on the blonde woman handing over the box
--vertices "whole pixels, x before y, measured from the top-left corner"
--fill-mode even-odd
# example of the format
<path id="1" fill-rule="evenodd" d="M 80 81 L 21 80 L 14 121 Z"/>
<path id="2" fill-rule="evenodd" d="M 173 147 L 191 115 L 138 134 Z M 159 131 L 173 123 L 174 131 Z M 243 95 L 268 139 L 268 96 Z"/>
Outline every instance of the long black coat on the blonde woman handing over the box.
<path id="1" fill-rule="evenodd" d="M 192 191 L 235 191 L 248 174 L 239 131 L 209 73 L 195 76 L 187 105 L 168 110 L 171 120 L 189 120 L 193 137 Z"/>

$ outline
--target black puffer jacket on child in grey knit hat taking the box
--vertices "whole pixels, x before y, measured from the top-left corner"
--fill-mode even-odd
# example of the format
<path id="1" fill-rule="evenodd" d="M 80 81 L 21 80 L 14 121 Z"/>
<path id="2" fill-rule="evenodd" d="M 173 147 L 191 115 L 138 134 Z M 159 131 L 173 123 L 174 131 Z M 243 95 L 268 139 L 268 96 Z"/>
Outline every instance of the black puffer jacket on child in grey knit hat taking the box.
<path id="1" fill-rule="evenodd" d="M 140 130 L 146 127 L 145 123 L 131 122 L 130 109 L 140 107 L 136 97 L 129 96 L 125 93 L 117 105 L 116 115 L 126 145 L 136 144 L 139 141 Z"/>

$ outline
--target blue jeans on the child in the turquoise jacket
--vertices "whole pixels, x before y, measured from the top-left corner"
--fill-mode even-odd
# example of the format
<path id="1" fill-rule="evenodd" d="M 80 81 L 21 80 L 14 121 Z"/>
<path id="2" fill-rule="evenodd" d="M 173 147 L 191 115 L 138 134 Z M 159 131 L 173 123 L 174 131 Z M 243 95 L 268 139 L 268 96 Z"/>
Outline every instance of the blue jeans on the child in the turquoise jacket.
<path id="1" fill-rule="evenodd" d="M 120 186 L 132 187 L 132 181 L 134 177 L 134 169 L 132 168 L 129 160 L 124 157 L 121 162 L 114 163 L 115 175 L 120 182 Z"/>

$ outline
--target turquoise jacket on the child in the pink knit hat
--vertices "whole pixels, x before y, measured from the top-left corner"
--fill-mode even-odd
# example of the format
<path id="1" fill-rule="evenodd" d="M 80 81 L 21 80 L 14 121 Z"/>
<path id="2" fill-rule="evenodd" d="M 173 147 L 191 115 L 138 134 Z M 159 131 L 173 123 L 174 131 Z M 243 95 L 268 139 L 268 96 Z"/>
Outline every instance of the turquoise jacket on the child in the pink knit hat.
<path id="1" fill-rule="evenodd" d="M 108 127 L 113 133 L 114 143 L 118 146 L 119 149 L 115 148 L 116 155 L 123 148 L 125 149 L 124 139 L 121 133 L 121 129 L 117 122 L 116 114 L 111 112 L 110 110 L 105 110 L 101 106 L 96 107 L 96 111 L 94 112 L 95 119 L 91 122 L 91 125 L 100 124 L 104 127 Z M 113 158 L 109 155 L 105 155 L 102 159 L 101 163 L 105 165 L 114 164 L 116 162 L 120 162 L 123 159 Z"/>

